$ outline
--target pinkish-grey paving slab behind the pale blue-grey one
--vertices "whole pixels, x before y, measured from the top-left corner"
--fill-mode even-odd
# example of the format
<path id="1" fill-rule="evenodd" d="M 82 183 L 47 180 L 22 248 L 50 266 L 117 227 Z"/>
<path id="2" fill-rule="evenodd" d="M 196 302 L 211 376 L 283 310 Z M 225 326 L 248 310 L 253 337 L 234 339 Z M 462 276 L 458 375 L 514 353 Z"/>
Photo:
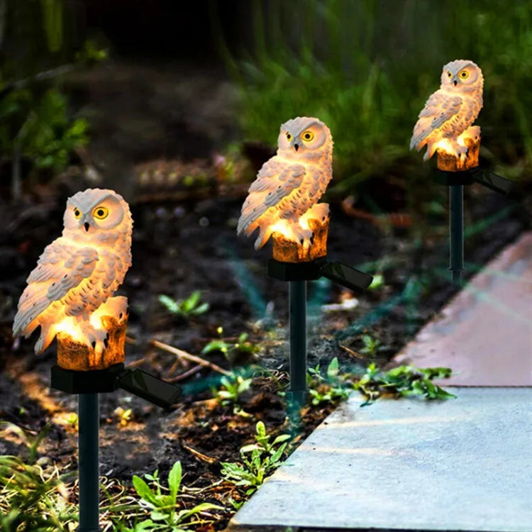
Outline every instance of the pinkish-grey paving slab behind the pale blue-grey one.
<path id="1" fill-rule="evenodd" d="M 531 386 L 532 232 L 475 275 L 393 362 L 451 367 L 445 384 Z"/>

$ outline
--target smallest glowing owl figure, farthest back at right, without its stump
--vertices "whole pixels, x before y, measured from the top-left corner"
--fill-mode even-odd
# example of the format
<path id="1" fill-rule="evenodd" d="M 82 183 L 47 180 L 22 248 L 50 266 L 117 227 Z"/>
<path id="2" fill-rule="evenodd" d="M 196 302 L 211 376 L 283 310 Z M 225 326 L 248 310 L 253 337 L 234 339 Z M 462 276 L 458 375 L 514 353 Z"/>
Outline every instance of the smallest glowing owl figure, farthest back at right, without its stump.
<path id="1" fill-rule="evenodd" d="M 476 120 L 482 109 L 482 70 L 474 62 L 458 59 L 443 67 L 440 89 L 427 100 L 414 127 L 410 149 L 427 150 L 428 160 L 438 148 L 460 158 L 467 147 L 460 135 Z M 480 128 L 478 129 L 480 133 Z"/>

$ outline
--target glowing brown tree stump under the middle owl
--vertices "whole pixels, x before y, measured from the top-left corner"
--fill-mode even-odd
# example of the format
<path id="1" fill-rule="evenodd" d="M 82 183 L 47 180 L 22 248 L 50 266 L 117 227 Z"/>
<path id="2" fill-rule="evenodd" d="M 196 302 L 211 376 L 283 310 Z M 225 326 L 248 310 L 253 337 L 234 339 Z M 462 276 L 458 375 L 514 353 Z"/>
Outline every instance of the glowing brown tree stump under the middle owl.
<path id="1" fill-rule="evenodd" d="M 326 257 L 329 220 L 329 216 L 325 220 L 309 218 L 307 224 L 314 233 L 314 240 L 309 246 L 290 240 L 282 233 L 273 233 L 273 258 L 279 262 L 311 262 Z"/>

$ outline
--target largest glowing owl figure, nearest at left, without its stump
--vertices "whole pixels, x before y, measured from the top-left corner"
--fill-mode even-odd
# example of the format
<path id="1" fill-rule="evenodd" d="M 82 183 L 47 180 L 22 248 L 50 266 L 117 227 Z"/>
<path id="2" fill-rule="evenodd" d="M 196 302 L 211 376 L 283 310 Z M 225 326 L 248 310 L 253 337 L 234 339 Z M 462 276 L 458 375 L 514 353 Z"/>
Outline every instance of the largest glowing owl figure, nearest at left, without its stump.
<path id="1" fill-rule="evenodd" d="M 61 331 L 101 353 L 106 331 L 97 316 L 126 316 L 127 299 L 111 297 L 131 266 L 133 220 L 122 196 L 87 189 L 67 200 L 62 235 L 40 255 L 18 301 L 13 336 L 40 326 L 35 353 Z"/>

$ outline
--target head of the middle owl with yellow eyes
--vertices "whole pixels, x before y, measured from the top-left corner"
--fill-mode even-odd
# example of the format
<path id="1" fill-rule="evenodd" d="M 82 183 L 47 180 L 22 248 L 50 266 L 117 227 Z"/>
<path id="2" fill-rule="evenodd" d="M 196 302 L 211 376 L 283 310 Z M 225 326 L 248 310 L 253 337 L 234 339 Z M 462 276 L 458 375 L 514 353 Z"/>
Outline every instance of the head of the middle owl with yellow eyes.
<path id="1" fill-rule="evenodd" d="M 282 124 L 277 140 L 279 152 L 291 158 L 322 155 L 332 150 L 333 138 L 329 128 L 318 118 L 298 116 Z"/>

